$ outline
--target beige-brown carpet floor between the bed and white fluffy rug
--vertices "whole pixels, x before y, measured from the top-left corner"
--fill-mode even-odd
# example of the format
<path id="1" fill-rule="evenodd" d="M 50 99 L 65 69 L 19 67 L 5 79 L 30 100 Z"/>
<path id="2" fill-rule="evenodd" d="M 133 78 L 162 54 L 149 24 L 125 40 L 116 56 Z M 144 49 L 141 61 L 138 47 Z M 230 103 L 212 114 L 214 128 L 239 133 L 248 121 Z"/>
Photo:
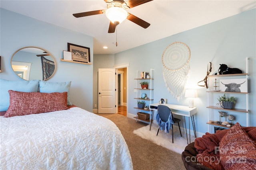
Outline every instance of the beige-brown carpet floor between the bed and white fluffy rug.
<path id="1" fill-rule="evenodd" d="M 148 124 L 119 114 L 98 114 L 113 121 L 120 129 L 132 157 L 134 170 L 186 170 L 179 153 L 156 145 L 133 133 Z"/>

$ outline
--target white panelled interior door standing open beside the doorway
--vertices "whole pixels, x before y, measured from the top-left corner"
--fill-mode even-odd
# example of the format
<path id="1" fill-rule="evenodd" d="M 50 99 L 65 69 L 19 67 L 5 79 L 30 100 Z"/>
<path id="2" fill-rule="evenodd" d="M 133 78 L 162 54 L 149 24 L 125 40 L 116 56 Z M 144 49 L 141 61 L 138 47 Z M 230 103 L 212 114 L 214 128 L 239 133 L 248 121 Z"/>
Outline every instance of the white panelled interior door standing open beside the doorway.
<path id="1" fill-rule="evenodd" d="M 98 113 L 115 113 L 116 69 L 99 68 L 98 73 Z"/>

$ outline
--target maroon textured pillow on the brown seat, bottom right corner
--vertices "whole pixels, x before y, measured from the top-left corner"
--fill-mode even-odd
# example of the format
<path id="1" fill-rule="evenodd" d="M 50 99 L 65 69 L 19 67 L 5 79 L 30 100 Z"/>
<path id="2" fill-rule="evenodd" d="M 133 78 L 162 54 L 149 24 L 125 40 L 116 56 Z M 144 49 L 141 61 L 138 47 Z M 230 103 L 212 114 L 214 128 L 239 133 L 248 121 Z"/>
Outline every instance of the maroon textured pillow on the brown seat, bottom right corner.
<path id="1" fill-rule="evenodd" d="M 256 169 L 256 141 L 236 123 L 220 141 L 220 160 L 224 169 Z"/>

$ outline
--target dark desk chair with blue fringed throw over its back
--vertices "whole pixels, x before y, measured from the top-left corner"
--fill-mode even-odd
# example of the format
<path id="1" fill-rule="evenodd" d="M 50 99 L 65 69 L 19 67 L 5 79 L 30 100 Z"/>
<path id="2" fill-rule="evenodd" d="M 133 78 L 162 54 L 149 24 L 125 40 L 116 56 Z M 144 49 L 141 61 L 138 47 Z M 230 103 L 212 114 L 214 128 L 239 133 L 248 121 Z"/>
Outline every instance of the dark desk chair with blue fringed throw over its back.
<path id="1" fill-rule="evenodd" d="M 179 129 L 180 129 L 179 121 L 181 120 L 173 117 L 172 111 L 169 107 L 164 105 L 158 105 L 156 121 L 158 123 L 158 131 L 156 136 L 158 135 L 158 132 L 160 129 L 161 131 L 163 130 L 164 133 L 169 133 L 170 127 L 172 126 L 172 143 L 173 143 L 173 124 L 178 123 Z M 182 137 L 181 131 L 180 131 L 180 136 Z"/>

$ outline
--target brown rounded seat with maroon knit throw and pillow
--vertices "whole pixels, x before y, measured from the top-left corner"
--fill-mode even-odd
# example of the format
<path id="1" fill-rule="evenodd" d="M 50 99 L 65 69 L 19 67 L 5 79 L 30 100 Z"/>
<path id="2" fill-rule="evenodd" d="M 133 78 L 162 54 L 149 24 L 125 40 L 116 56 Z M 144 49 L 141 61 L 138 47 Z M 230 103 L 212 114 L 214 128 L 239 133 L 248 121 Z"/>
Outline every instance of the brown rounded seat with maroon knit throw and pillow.
<path id="1" fill-rule="evenodd" d="M 182 160 L 187 170 L 256 170 L 256 127 L 206 133 L 186 146 Z"/>

